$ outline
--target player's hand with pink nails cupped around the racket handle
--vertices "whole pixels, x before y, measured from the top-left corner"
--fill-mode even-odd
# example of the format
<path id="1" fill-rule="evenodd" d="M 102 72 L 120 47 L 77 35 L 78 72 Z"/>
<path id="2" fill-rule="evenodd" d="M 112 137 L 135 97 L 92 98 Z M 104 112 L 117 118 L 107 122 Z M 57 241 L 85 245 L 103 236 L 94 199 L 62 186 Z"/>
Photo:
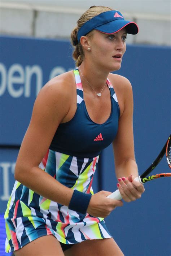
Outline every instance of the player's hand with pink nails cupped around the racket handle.
<path id="1" fill-rule="evenodd" d="M 122 177 L 119 178 L 119 183 L 117 184 L 120 194 L 124 201 L 131 202 L 136 199 L 141 198 L 142 193 L 144 193 L 144 186 L 138 182 L 133 181 L 135 177 L 129 175 L 128 178 Z"/>

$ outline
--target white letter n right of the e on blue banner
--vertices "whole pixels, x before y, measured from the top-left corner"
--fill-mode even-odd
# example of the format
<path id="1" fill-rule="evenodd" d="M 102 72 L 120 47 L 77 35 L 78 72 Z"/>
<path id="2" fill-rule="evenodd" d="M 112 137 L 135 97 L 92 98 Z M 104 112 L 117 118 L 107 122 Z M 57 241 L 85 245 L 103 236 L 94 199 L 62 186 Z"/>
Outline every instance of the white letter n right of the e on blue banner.
<path id="1" fill-rule="evenodd" d="M 33 74 L 36 74 L 36 78 L 37 78 L 37 83 L 36 83 L 36 95 L 38 95 L 42 85 L 43 85 L 43 73 L 42 70 L 40 68 L 40 66 L 38 65 L 34 65 L 34 66 L 26 66 L 26 86 L 25 86 L 25 97 L 30 97 L 31 95 L 31 89 L 30 89 L 30 85 L 31 85 L 31 77 Z"/>

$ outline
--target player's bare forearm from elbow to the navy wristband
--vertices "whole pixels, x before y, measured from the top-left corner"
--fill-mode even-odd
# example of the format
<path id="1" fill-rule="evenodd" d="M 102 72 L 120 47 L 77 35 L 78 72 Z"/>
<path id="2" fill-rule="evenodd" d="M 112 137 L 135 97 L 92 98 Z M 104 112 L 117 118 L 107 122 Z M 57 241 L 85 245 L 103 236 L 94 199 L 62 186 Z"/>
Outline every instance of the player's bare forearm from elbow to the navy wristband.
<path id="1" fill-rule="evenodd" d="M 17 170 L 15 179 L 37 194 L 66 206 L 69 205 L 73 195 L 73 190 L 62 185 L 39 167 L 27 170 L 27 173 L 26 171 L 18 172 Z"/>

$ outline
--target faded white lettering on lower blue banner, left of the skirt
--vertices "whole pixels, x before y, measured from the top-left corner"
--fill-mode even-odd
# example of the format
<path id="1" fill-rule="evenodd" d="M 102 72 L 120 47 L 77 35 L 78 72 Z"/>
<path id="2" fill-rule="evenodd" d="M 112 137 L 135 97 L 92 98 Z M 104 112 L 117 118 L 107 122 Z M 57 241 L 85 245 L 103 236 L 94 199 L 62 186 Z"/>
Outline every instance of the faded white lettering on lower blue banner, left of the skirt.
<path id="1" fill-rule="evenodd" d="M 9 184 L 9 170 L 14 173 L 16 163 L 15 162 L 0 162 L 0 170 L 2 169 L 2 185 L 3 195 L 0 196 L 2 201 L 9 200 L 10 197 L 10 184 Z"/>

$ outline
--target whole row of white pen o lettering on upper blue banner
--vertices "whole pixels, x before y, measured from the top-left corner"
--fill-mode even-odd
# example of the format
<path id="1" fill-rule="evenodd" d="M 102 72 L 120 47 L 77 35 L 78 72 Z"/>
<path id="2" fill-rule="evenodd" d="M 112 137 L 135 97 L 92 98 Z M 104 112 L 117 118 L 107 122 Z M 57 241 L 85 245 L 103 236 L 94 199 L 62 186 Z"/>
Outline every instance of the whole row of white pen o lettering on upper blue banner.
<path id="1" fill-rule="evenodd" d="M 66 70 L 62 66 L 56 66 L 51 70 L 49 80 L 56 75 L 70 70 L 72 70 L 72 68 Z M 6 66 L 0 63 L 0 96 L 2 96 L 7 89 L 9 95 L 13 98 L 19 98 L 21 96 L 29 98 L 31 96 L 31 79 L 33 75 L 36 75 L 35 96 L 37 96 L 43 86 L 43 70 L 39 65 L 27 65 L 23 67 L 21 64 L 15 63 L 7 70 Z"/>

